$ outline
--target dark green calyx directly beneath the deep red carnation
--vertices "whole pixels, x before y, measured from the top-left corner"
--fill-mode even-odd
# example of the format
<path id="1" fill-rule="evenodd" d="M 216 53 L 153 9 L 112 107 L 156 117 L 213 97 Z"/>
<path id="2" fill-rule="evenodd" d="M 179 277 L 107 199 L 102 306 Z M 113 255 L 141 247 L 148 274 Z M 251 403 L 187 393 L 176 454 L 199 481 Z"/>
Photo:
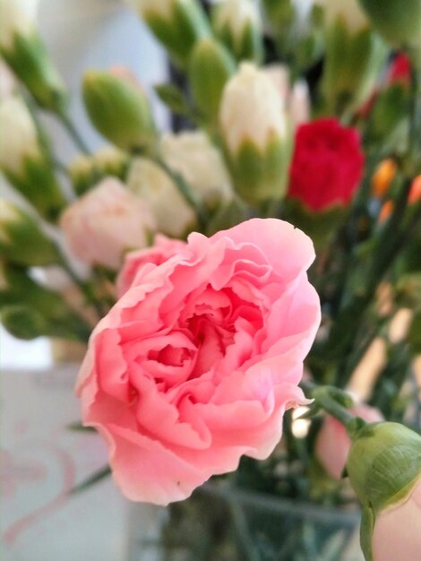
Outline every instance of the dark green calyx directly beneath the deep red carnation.
<path id="1" fill-rule="evenodd" d="M 312 238 L 318 254 L 331 243 L 339 225 L 348 216 L 348 208 L 334 204 L 323 211 L 316 212 L 307 208 L 304 203 L 287 197 L 282 203 L 281 216 Z"/>

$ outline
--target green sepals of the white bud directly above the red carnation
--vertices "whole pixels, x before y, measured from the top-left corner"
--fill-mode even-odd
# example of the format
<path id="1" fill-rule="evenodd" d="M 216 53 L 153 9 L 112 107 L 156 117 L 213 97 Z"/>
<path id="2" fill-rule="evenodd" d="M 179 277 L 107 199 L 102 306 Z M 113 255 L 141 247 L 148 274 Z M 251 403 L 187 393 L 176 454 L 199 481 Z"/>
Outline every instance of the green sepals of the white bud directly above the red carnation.
<path id="1" fill-rule="evenodd" d="M 374 90 L 388 48 L 368 27 L 350 32 L 338 17 L 326 32 L 322 93 L 331 113 L 357 108 Z"/>

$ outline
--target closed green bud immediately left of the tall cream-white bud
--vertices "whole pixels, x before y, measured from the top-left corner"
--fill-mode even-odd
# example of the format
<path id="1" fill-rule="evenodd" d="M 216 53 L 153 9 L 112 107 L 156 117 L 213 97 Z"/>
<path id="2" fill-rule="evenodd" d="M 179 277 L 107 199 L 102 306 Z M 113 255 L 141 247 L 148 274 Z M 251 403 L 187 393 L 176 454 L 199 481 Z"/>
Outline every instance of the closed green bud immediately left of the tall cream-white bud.
<path id="1" fill-rule="evenodd" d="M 235 72 L 236 63 L 223 45 L 214 39 L 196 43 L 189 65 L 190 85 L 194 102 L 211 128 L 218 124 L 222 91 Z"/>

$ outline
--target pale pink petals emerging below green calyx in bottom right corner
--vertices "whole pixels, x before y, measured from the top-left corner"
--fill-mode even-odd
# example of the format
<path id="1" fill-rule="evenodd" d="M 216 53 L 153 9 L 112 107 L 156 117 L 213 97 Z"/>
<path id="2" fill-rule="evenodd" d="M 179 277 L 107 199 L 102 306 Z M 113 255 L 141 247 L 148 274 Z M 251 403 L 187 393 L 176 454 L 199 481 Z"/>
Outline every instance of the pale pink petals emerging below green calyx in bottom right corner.
<path id="1" fill-rule="evenodd" d="M 374 561 L 416 561 L 421 557 L 421 479 L 396 505 L 375 519 Z"/>

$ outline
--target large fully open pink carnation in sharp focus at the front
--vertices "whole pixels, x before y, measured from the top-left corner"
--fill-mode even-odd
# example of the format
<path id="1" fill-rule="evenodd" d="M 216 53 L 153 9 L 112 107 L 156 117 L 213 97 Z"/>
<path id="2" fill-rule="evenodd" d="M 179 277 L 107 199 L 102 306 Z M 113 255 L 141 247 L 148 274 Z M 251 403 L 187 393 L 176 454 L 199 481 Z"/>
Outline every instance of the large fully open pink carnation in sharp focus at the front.
<path id="1" fill-rule="evenodd" d="M 77 393 L 125 496 L 167 505 L 269 456 L 306 402 L 320 304 L 313 244 L 281 220 L 193 233 L 162 263 L 154 251 L 92 333 Z"/>

